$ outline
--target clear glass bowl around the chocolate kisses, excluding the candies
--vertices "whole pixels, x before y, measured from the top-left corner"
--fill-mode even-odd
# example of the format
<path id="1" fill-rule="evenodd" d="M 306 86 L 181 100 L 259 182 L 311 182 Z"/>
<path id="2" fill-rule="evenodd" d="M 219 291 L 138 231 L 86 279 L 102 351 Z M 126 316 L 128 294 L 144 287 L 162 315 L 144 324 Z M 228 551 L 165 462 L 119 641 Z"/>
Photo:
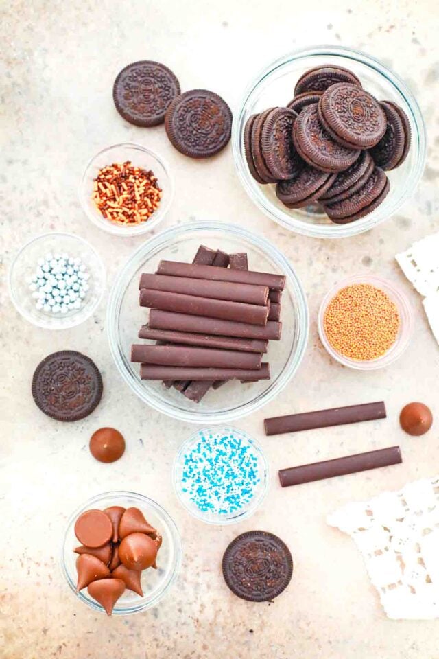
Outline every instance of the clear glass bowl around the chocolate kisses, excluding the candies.
<path id="1" fill-rule="evenodd" d="M 171 589 L 180 571 L 182 561 L 182 545 L 180 533 L 174 520 L 169 513 L 155 501 L 134 492 L 104 492 L 97 494 L 76 509 L 67 522 L 61 551 L 61 568 L 69 587 L 80 601 L 92 609 L 104 613 L 104 608 L 88 594 L 86 588 L 77 592 L 76 581 L 76 559 L 78 554 L 73 551 L 81 543 L 75 536 L 75 522 L 86 510 L 104 510 L 110 506 L 122 506 L 123 508 L 137 507 L 145 518 L 157 529 L 163 537 L 160 551 L 157 554 L 157 569 L 144 570 L 141 576 L 143 597 L 140 597 L 128 588 L 117 601 L 112 611 L 113 616 L 128 616 L 132 613 L 140 613 L 152 606 L 156 606 L 163 596 Z"/>

